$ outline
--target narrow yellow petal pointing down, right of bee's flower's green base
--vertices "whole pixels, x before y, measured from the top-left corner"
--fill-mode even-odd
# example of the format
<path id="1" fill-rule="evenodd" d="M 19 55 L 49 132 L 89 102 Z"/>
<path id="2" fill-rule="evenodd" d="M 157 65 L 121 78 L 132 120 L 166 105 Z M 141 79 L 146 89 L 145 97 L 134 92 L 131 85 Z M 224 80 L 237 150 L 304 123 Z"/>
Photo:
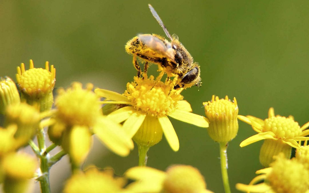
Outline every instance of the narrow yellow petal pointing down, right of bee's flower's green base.
<path id="1" fill-rule="evenodd" d="M 174 127 L 171 123 L 171 121 L 167 118 L 167 116 L 163 116 L 163 117 L 159 117 L 158 118 L 164 136 L 168 142 L 168 144 L 171 146 L 171 148 L 174 151 L 178 151 L 179 150 L 179 141 L 178 141 L 178 137 L 176 135 L 176 132 L 174 130 Z"/>

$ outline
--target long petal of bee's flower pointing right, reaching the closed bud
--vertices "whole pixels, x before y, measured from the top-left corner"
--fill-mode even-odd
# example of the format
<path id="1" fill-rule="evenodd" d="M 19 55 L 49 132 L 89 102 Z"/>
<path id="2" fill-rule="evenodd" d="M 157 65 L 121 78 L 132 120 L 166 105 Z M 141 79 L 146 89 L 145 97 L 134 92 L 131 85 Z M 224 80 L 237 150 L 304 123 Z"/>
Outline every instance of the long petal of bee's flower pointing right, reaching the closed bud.
<path id="1" fill-rule="evenodd" d="M 187 111 L 175 109 L 175 111 L 168 116 L 198 127 L 208 127 L 208 122 L 205 120 L 205 117 Z"/>

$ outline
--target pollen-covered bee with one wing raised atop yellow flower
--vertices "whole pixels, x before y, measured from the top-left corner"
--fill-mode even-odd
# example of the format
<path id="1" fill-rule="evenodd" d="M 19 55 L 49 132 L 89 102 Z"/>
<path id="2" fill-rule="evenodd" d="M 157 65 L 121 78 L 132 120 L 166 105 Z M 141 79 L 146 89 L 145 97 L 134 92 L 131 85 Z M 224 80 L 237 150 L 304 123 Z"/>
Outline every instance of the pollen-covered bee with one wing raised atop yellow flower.
<path id="1" fill-rule="evenodd" d="M 138 71 L 137 76 L 140 77 L 142 73 L 137 61 L 137 57 L 139 57 L 145 61 L 145 74 L 149 62 L 152 62 L 162 67 L 159 70 L 162 69 L 167 73 L 167 77 L 178 76 L 174 89 L 189 88 L 193 85 L 200 86 L 200 66 L 197 62 L 193 62 L 193 57 L 179 42 L 178 37 L 175 34 L 170 35 L 155 9 L 150 4 L 148 6 L 171 41 L 157 34 L 141 34 L 128 41 L 125 50 L 133 55 L 133 65 Z"/>

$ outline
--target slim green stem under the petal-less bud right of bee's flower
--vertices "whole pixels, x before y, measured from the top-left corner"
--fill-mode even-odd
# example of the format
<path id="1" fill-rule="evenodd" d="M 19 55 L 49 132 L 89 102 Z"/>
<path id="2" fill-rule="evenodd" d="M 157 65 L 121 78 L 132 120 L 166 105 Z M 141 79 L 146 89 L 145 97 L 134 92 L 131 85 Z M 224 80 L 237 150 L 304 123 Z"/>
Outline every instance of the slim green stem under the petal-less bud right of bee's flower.
<path id="1" fill-rule="evenodd" d="M 221 174 L 223 180 L 223 186 L 225 193 L 231 193 L 231 188 L 229 184 L 229 177 L 227 175 L 227 142 L 219 142 L 220 146 L 220 162 L 221 162 Z"/>

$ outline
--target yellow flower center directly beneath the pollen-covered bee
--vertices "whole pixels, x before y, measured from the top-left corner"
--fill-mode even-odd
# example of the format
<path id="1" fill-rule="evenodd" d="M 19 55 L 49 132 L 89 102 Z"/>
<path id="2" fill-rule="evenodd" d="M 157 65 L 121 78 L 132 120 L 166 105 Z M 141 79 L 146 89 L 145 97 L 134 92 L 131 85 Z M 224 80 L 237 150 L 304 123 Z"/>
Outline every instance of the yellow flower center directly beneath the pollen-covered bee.
<path id="1" fill-rule="evenodd" d="M 177 101 L 182 100 L 180 90 L 174 90 L 176 78 L 165 82 L 150 78 L 134 77 L 134 82 L 127 84 L 125 96 L 137 111 L 148 115 L 163 116 L 173 112 Z"/>

